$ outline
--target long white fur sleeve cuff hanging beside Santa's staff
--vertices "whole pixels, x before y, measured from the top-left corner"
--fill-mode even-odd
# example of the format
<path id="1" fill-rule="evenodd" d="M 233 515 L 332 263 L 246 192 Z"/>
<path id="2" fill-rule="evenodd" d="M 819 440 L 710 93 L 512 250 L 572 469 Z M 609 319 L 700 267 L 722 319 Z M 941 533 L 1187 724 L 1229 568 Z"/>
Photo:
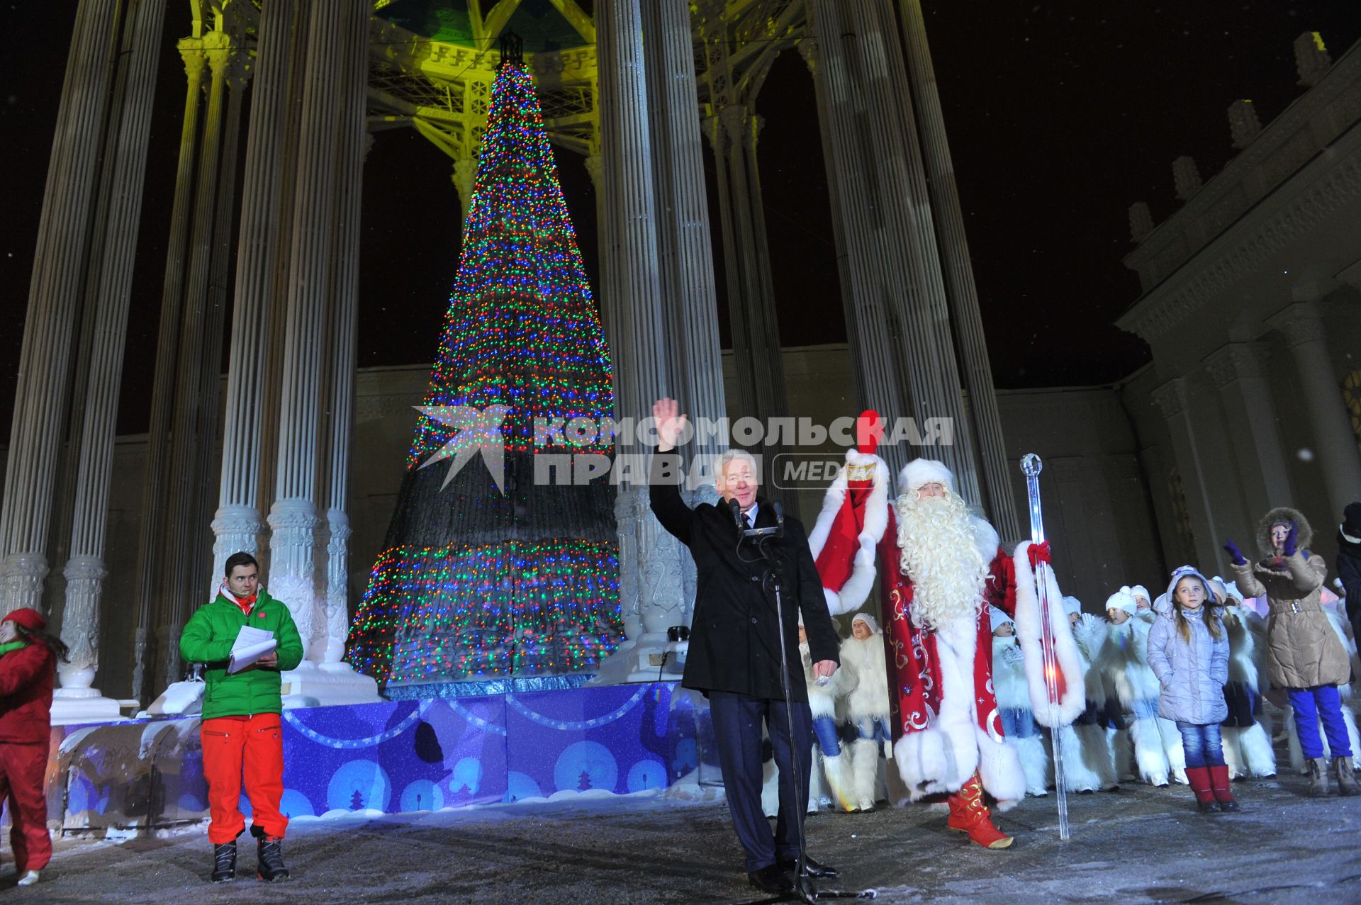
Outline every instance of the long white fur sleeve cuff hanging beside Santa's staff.
<path id="1" fill-rule="evenodd" d="M 1030 542 L 1023 540 L 1017 546 L 1013 561 L 1017 574 L 1017 640 L 1021 642 L 1021 652 L 1025 655 L 1026 683 L 1030 686 L 1030 705 L 1034 708 L 1034 719 L 1041 725 L 1053 728 L 1055 719 L 1059 725 L 1067 725 L 1078 717 L 1086 708 L 1085 698 L 1085 670 L 1082 668 L 1082 655 L 1078 644 L 1072 640 L 1072 630 L 1068 627 L 1068 618 L 1063 612 L 1063 593 L 1059 591 L 1059 581 L 1053 577 L 1053 569 L 1045 569 L 1045 589 L 1049 600 L 1049 626 L 1053 631 L 1053 653 L 1063 676 L 1063 698 L 1059 701 L 1057 714 L 1049 713 L 1049 691 L 1044 680 L 1044 646 L 1043 622 L 1040 612 L 1040 597 L 1036 593 L 1034 572 L 1030 569 Z"/>

